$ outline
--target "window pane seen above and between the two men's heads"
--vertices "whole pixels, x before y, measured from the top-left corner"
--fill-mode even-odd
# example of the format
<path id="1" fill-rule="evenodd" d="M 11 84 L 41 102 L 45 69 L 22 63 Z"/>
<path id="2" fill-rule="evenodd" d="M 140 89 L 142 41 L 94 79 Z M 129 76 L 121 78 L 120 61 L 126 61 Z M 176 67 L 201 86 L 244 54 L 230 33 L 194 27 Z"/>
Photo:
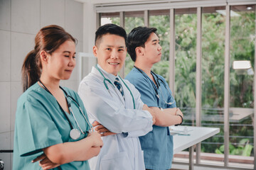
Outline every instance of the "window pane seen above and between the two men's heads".
<path id="1" fill-rule="evenodd" d="M 125 12 L 124 13 L 124 29 L 126 30 L 127 34 L 131 32 L 131 30 L 138 26 L 144 26 L 144 11 L 132 11 L 132 12 Z M 132 61 L 131 57 L 127 54 L 125 59 L 125 70 L 124 70 L 124 77 L 129 74 L 131 69 L 133 68 L 134 62 Z"/>

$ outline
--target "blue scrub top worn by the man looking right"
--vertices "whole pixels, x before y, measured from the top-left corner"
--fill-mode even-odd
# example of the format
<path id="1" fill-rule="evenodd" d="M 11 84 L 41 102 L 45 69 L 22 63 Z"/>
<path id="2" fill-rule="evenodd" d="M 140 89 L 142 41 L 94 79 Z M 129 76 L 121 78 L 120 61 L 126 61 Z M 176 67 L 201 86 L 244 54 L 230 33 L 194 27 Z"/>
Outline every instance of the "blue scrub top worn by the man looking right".
<path id="1" fill-rule="evenodd" d="M 154 76 L 154 75 L 153 75 Z M 159 81 L 160 89 L 156 88 L 154 81 L 152 81 L 145 73 L 142 74 L 138 69 L 133 68 L 131 72 L 125 77 L 139 90 L 142 95 L 142 101 L 149 107 L 159 108 L 176 108 L 176 102 L 170 95 L 171 90 L 166 83 L 164 77 L 157 74 L 159 79 L 162 79 L 166 84 Z M 154 76 L 156 80 L 156 76 Z M 160 98 L 157 98 L 155 89 L 157 89 Z M 161 91 L 163 94 L 161 94 Z M 170 94 L 169 94 L 169 92 Z M 163 96 L 166 102 L 174 102 L 171 105 L 167 105 L 164 102 Z M 173 137 L 170 135 L 169 127 L 160 127 L 153 125 L 153 130 L 148 134 L 139 137 L 144 151 L 144 162 L 146 169 L 171 169 L 171 161 L 174 154 L 174 143 Z"/>

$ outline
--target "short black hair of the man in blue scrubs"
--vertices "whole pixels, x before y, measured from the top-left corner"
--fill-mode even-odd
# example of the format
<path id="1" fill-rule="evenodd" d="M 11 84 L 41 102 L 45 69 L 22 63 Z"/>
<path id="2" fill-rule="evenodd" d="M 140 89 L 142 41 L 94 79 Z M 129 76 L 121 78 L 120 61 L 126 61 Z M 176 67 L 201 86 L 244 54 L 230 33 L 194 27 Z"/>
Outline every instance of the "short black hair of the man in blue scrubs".
<path id="1" fill-rule="evenodd" d="M 136 47 L 145 47 L 146 40 L 149 39 L 151 33 L 156 33 L 156 28 L 137 27 L 132 29 L 127 36 L 127 52 L 131 56 L 132 61 L 136 61 Z"/>

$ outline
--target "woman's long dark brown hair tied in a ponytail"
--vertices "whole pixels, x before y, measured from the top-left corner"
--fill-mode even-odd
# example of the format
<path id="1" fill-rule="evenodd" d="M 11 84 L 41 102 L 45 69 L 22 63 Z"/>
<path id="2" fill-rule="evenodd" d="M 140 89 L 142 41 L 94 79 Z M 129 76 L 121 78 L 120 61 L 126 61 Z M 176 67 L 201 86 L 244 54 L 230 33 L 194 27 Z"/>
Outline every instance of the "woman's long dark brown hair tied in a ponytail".
<path id="1" fill-rule="evenodd" d="M 51 25 L 39 30 L 35 38 L 34 50 L 28 52 L 22 65 L 23 91 L 26 91 L 41 77 L 42 64 L 40 52 L 44 50 L 48 54 L 52 54 L 66 40 L 72 40 L 75 44 L 77 42 L 72 35 L 65 32 L 60 26 Z"/>

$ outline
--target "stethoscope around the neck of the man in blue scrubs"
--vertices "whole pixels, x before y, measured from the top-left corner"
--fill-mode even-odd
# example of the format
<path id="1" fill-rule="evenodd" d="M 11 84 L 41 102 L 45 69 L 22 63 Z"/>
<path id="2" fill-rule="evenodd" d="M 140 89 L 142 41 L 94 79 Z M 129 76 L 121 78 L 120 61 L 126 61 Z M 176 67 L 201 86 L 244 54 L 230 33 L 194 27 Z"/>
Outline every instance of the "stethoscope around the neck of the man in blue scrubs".
<path id="1" fill-rule="evenodd" d="M 144 77 L 146 77 L 147 79 L 149 79 L 149 77 L 142 71 L 142 69 L 139 69 L 138 67 L 134 66 L 135 69 L 139 70 L 139 72 L 141 72 L 143 74 Z M 164 81 L 162 79 L 160 79 L 154 72 L 150 71 L 152 75 L 154 75 L 153 77 L 156 77 L 156 86 L 159 87 L 160 91 L 161 91 L 161 97 L 164 99 L 163 96 L 163 91 L 160 88 L 160 84 L 164 84 L 165 89 L 169 92 L 169 95 L 171 96 L 171 101 L 173 102 L 166 102 L 166 100 L 164 99 L 164 103 L 168 104 L 168 105 L 172 105 L 175 101 L 174 101 L 174 97 L 171 95 L 169 89 L 167 88 L 166 84 L 164 83 Z M 159 82 L 161 81 L 161 82 Z M 156 97 L 160 99 L 159 93 L 157 91 L 157 89 L 154 87 L 154 91 L 156 92 Z"/>

